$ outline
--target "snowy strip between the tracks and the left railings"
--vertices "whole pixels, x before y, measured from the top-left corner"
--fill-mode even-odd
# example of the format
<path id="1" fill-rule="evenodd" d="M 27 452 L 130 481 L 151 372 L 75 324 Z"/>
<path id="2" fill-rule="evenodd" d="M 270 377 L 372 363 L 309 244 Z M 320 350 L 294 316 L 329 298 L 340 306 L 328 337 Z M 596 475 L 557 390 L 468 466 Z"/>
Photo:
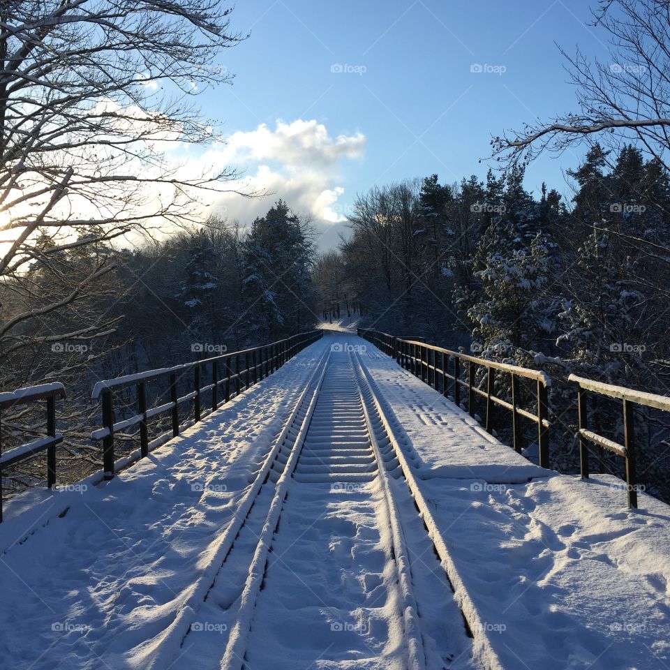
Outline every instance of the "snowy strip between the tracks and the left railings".
<path id="1" fill-rule="evenodd" d="M 0 666 L 149 662 L 324 350 L 315 343 L 111 482 L 8 501 Z"/>

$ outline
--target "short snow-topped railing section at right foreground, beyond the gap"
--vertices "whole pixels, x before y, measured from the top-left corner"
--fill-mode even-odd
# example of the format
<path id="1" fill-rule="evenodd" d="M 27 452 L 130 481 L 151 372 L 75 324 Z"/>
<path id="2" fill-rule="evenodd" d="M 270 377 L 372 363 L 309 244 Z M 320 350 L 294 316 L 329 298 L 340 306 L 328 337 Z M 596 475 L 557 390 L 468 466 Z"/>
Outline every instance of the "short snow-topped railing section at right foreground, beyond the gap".
<path id="1" fill-rule="evenodd" d="M 579 412 L 579 461 L 581 477 L 588 479 L 590 468 L 588 464 L 589 445 L 596 445 L 625 460 L 625 479 L 628 492 L 628 507 L 637 507 L 636 454 L 635 454 L 635 405 L 655 408 L 670 412 L 670 398 L 654 393 L 634 391 L 623 386 L 604 384 L 590 379 L 570 375 L 568 380 L 577 386 L 577 407 Z M 586 394 L 595 393 L 623 401 L 623 445 L 610 440 L 588 428 L 588 410 Z"/>

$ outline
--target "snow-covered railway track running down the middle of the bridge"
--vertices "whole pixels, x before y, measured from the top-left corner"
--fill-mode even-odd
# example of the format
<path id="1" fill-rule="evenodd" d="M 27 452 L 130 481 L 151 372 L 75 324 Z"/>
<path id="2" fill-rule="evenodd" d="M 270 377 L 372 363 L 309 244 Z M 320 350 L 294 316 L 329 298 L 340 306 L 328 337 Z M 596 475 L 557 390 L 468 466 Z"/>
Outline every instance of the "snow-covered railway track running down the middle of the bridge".
<path id="1" fill-rule="evenodd" d="M 438 561 L 415 553 L 412 572 L 385 472 L 392 449 L 387 436 L 378 442 L 385 430 L 364 408 L 355 362 L 333 352 L 322 365 L 181 641 L 187 651 L 176 669 L 422 670 L 415 586 L 426 619 L 441 622 L 434 637 L 426 633 L 429 667 L 472 667 Z M 413 509 L 404 525 L 427 553 Z"/>

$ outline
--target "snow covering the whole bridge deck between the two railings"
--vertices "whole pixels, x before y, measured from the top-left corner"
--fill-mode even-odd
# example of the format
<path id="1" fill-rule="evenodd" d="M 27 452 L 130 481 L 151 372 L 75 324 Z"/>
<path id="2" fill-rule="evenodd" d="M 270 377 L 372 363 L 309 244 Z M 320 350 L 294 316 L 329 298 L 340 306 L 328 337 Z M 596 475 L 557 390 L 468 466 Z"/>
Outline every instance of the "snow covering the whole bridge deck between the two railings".
<path id="1" fill-rule="evenodd" d="M 586 483 L 535 466 L 369 343 L 334 332 L 111 482 L 10 500 L 0 526 L 0 666 L 220 667 L 217 649 L 235 622 L 217 618 L 216 608 L 239 598 L 245 579 L 231 567 L 217 581 L 222 538 L 239 520 L 263 457 L 292 412 L 299 415 L 318 364 L 345 344 L 360 352 L 360 373 L 415 499 L 427 507 L 423 521 L 433 542 L 415 527 L 405 477 L 389 480 L 426 667 L 670 665 L 667 505 L 642 494 L 630 512 L 618 480 Z M 352 412 L 341 430 L 353 434 L 357 401 L 338 396 L 337 382 L 329 382 L 332 402 L 348 408 L 340 414 Z M 334 420 L 319 419 L 322 426 Z M 370 458 L 354 456 L 361 466 Z M 297 472 L 304 478 L 309 463 Z M 299 488 L 299 479 L 287 489 L 281 529 L 288 530 L 277 534 L 272 558 L 287 557 L 283 577 L 282 565 L 269 563 L 274 607 L 266 602 L 258 618 L 251 616 L 245 667 L 408 667 L 412 655 L 399 648 L 403 627 L 414 623 L 397 615 L 400 596 L 385 595 L 375 616 L 368 611 L 394 581 L 386 537 L 392 508 L 382 505 L 383 486 L 370 482 L 363 495 L 344 485 L 329 502 L 321 489 Z M 258 537 L 239 538 L 253 553 Z M 310 542 L 325 549 L 310 551 Z M 292 597 L 282 588 L 290 579 L 303 582 Z M 306 609 L 308 597 L 322 606 Z M 381 639 L 386 643 L 375 646 Z"/>

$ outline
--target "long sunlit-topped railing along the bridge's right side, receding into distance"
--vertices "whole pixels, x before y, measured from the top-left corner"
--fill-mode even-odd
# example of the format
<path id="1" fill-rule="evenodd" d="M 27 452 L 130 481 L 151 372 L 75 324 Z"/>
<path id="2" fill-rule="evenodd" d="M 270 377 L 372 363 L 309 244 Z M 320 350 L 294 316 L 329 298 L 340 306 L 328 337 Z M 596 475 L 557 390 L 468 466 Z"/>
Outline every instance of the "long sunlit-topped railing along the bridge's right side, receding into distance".
<path id="1" fill-rule="evenodd" d="M 551 386 L 549 375 L 537 370 L 489 361 L 426 344 L 417 339 L 400 338 L 371 329 L 359 329 L 358 334 L 396 359 L 399 365 L 429 386 L 441 391 L 445 396 L 451 395 L 456 405 L 461 404 L 461 389 L 467 389 L 468 412 L 472 417 L 475 416 L 475 396 L 484 398 L 486 401 L 484 426 L 489 433 L 493 432 L 494 405 L 509 410 L 512 414 L 512 443 L 519 454 L 523 453 L 523 430 L 519 419 L 528 419 L 536 424 L 538 462 L 543 468 L 549 468 L 549 429 L 551 428 L 547 404 L 547 389 Z M 466 368 L 467 376 L 465 375 Z M 484 368 L 482 382 L 486 382 L 486 390 L 475 385 L 477 368 L 480 370 Z M 512 402 L 496 395 L 497 372 L 509 375 Z M 521 407 L 519 378 L 535 382 L 535 412 Z M 451 393 L 449 393 L 449 387 L 451 387 Z"/>

